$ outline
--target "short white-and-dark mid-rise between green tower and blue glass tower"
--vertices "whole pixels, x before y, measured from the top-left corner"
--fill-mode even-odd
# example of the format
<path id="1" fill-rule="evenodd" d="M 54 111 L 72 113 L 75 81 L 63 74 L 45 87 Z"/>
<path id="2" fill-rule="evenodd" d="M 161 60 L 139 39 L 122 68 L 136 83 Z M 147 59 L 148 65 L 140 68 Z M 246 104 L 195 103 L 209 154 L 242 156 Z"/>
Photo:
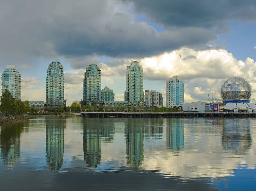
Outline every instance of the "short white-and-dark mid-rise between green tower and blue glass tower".
<path id="1" fill-rule="evenodd" d="M 154 107 L 154 106 L 162 106 L 163 105 L 163 97 L 162 93 L 156 91 L 155 89 L 145 90 L 145 105 L 146 107 Z"/>

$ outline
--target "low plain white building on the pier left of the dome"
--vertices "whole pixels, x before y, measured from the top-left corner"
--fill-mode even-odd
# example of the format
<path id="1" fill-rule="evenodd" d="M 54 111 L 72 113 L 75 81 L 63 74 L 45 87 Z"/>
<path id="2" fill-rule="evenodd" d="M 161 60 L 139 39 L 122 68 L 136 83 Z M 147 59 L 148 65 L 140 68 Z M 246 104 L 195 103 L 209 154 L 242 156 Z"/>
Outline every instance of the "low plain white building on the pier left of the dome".
<path id="1" fill-rule="evenodd" d="M 205 102 L 201 102 L 201 101 L 184 103 L 183 111 L 184 112 L 198 112 L 198 113 L 209 112 L 209 103 L 205 103 Z"/>

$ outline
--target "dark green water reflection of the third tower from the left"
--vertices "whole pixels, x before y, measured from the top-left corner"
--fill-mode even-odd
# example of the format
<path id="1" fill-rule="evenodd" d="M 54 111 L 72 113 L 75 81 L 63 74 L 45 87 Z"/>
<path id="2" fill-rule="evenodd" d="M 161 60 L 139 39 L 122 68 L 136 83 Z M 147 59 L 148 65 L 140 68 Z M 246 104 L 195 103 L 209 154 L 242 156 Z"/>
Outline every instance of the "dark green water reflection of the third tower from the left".
<path id="1" fill-rule="evenodd" d="M 97 168 L 101 155 L 101 127 L 98 120 L 84 123 L 84 160 L 90 168 Z"/>

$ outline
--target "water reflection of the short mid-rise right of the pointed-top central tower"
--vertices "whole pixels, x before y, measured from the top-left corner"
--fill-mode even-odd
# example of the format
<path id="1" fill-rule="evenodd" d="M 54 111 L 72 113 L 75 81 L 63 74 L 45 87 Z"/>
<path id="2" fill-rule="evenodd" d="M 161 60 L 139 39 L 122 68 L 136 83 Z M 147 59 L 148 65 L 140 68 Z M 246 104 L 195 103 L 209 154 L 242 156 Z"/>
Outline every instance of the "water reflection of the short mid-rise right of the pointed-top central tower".
<path id="1" fill-rule="evenodd" d="M 160 139 L 163 135 L 163 119 L 162 118 L 147 118 L 145 124 L 144 135 L 145 139 Z"/>

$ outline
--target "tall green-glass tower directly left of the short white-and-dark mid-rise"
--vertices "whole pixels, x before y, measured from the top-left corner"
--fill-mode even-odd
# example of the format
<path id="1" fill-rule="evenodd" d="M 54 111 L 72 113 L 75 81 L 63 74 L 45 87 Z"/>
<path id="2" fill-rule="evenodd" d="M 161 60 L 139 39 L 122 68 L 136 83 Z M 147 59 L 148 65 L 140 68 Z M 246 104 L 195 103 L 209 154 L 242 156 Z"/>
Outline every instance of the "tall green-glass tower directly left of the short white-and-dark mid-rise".
<path id="1" fill-rule="evenodd" d="M 125 101 L 132 106 L 142 105 L 144 102 L 143 68 L 137 61 L 132 62 L 126 69 Z"/>

